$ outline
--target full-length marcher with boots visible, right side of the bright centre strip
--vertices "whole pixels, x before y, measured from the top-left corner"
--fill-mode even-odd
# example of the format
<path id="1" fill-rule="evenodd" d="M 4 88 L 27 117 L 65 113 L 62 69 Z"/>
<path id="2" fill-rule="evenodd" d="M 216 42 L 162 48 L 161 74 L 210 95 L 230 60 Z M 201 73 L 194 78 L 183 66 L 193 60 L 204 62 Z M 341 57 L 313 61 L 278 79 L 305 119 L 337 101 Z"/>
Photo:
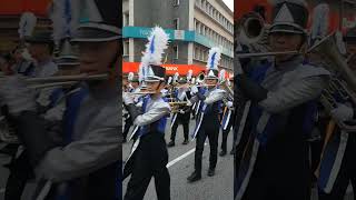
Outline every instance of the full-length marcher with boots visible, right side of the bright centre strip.
<path id="1" fill-rule="evenodd" d="M 204 151 L 204 143 L 206 138 L 209 139 L 210 157 L 208 176 L 215 174 L 215 168 L 218 157 L 218 137 L 219 137 L 219 112 L 220 104 L 224 98 L 224 90 L 217 89 L 218 83 L 218 63 L 220 61 L 220 49 L 211 48 L 207 63 L 207 72 L 205 83 L 208 84 L 206 90 L 200 91 L 191 88 L 192 98 L 191 102 L 200 101 L 197 116 L 197 126 L 192 132 L 192 138 L 196 138 L 195 151 L 195 171 L 187 178 L 189 182 L 198 181 L 201 179 L 201 158 Z"/>

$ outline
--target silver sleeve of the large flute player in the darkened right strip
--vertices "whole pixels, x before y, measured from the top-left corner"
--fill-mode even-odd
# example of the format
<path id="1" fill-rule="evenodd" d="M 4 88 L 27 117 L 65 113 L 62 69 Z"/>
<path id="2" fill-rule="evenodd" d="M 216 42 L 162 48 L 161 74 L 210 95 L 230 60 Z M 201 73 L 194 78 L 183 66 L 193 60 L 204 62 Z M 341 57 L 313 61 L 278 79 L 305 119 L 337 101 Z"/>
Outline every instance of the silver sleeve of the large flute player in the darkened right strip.
<path id="1" fill-rule="evenodd" d="M 320 96 L 328 83 L 327 76 L 307 77 L 277 91 L 268 91 L 259 106 L 270 113 L 278 113 Z"/>

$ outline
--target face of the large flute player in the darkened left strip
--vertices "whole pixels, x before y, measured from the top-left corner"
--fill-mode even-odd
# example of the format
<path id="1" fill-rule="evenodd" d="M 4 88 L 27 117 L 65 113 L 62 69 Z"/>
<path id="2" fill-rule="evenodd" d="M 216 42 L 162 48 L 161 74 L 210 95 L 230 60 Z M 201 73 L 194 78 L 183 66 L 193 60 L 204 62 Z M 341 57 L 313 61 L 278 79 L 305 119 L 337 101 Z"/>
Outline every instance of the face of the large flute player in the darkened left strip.
<path id="1" fill-rule="evenodd" d="M 109 72 L 119 63 L 119 50 L 118 41 L 80 42 L 80 72 L 88 74 Z"/>

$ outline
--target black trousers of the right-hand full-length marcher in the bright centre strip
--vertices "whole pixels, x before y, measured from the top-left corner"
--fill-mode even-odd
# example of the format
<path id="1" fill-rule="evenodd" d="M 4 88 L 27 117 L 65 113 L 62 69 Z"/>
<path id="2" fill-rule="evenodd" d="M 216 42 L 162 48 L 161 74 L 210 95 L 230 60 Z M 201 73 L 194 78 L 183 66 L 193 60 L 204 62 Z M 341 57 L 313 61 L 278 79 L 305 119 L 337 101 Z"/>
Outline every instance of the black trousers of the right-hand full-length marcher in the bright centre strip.
<path id="1" fill-rule="evenodd" d="M 204 151 L 205 140 L 209 139 L 210 156 L 209 156 L 209 168 L 215 169 L 218 160 L 218 139 L 219 139 L 219 124 L 208 126 L 208 123 L 202 123 L 198 133 L 196 141 L 196 152 L 195 152 L 195 170 L 201 172 L 201 159 Z"/>

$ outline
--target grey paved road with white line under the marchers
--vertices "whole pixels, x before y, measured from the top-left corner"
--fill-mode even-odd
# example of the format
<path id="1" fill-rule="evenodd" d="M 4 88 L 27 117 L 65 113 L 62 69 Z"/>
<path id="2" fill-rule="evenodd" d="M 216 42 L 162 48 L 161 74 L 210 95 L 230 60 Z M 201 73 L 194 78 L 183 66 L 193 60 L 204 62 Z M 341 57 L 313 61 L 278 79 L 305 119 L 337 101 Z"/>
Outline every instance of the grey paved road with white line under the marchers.
<path id="1" fill-rule="evenodd" d="M 166 141 L 169 142 L 170 138 L 170 123 L 167 123 Z M 195 127 L 195 122 L 191 121 L 190 130 Z M 172 163 L 169 169 L 170 173 L 170 190 L 171 200 L 227 200 L 233 199 L 233 174 L 234 174 L 234 157 L 227 154 L 225 157 L 218 157 L 218 163 L 216 168 L 216 174 L 214 177 L 207 176 L 208 161 L 209 161 L 209 143 L 206 140 L 206 146 L 202 154 L 202 179 L 194 183 L 187 183 L 187 177 L 194 171 L 194 150 L 195 141 L 190 141 L 187 146 L 182 146 L 184 140 L 182 127 L 180 126 L 177 131 L 176 146 L 168 149 L 169 166 L 171 161 L 179 158 L 179 161 Z M 220 146 L 221 137 L 219 137 Z M 230 132 L 228 137 L 228 151 L 231 149 L 233 134 Z M 123 159 L 128 157 L 130 143 L 125 143 Z M 219 150 L 220 151 L 220 150 Z M 123 193 L 129 178 L 123 181 Z M 145 200 L 157 199 L 155 182 L 151 180 L 149 188 L 146 192 Z"/>

